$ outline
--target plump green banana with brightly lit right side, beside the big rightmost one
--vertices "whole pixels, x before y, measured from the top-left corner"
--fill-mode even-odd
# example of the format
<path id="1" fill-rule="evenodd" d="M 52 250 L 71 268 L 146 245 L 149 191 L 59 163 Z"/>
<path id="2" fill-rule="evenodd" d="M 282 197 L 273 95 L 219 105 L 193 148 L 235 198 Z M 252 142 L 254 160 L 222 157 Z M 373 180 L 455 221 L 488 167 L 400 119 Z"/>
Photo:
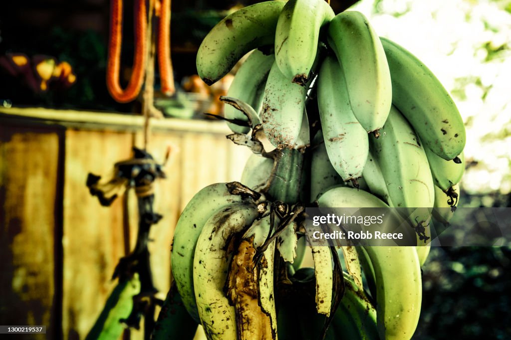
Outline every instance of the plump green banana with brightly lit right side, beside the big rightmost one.
<path id="1" fill-rule="evenodd" d="M 367 132 L 381 129 L 392 85 L 378 35 L 362 13 L 345 11 L 330 22 L 328 42 L 342 64 L 353 113 Z"/>

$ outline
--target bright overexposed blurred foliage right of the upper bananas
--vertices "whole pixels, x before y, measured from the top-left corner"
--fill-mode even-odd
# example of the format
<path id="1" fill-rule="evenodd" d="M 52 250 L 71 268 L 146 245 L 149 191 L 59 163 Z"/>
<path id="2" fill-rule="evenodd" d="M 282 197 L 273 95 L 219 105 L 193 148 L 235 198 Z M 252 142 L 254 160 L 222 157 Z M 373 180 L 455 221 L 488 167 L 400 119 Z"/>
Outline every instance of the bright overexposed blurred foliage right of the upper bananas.
<path id="1" fill-rule="evenodd" d="M 508 203 L 495 193 L 511 192 L 511 1 L 362 0 L 354 8 L 452 94 L 467 127 L 462 189 L 488 195 L 485 206 Z"/>

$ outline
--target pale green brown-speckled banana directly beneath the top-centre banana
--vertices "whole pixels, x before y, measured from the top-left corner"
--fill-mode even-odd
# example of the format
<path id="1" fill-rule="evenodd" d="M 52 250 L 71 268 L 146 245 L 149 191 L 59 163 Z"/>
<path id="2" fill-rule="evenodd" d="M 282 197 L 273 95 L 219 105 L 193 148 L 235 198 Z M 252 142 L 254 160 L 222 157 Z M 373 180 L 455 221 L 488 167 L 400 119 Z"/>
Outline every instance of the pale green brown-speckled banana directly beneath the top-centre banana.
<path id="1" fill-rule="evenodd" d="M 295 147 L 304 118 L 306 88 L 291 83 L 273 63 L 264 89 L 261 120 L 276 148 Z"/>

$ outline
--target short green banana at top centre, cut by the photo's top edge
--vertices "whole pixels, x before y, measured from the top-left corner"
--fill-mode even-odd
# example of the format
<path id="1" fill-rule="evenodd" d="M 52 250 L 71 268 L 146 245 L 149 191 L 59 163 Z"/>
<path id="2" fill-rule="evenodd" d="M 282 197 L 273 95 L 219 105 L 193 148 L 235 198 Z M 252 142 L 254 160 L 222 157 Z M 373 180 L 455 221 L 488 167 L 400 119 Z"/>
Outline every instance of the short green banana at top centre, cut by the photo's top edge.
<path id="1" fill-rule="evenodd" d="M 283 75 L 300 85 L 309 79 L 321 27 L 335 16 L 323 0 L 289 0 L 278 16 L 275 60 Z"/>

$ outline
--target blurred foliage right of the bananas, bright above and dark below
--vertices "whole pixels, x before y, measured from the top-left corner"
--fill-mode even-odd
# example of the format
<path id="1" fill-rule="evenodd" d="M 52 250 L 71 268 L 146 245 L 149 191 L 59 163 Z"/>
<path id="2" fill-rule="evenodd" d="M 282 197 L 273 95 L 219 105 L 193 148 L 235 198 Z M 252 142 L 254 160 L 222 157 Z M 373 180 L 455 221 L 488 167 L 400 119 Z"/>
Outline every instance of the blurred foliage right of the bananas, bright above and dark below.
<path id="1" fill-rule="evenodd" d="M 467 127 L 460 206 L 511 207 L 511 1 L 362 0 L 355 8 L 428 65 L 458 105 Z M 507 247 L 433 247 L 413 338 L 511 338 L 510 270 Z"/>

